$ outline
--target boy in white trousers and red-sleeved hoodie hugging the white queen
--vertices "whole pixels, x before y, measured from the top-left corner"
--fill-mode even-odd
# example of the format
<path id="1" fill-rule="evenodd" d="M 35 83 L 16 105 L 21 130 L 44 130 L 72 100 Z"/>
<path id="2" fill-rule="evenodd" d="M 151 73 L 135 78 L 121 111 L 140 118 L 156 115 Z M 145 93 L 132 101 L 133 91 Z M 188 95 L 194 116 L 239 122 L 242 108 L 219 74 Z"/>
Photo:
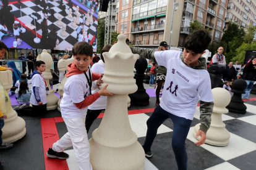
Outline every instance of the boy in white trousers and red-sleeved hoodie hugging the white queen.
<path id="1" fill-rule="evenodd" d="M 75 44 L 72 49 L 74 62 L 68 65 L 67 81 L 64 85 L 64 95 L 61 100 L 61 115 L 67 126 L 67 133 L 49 148 L 46 155 L 49 158 L 67 159 L 69 155 L 64 149 L 73 145 L 79 169 L 91 170 L 90 144 L 85 129 L 85 117 L 88 105 L 97 100 L 100 95 L 113 95 L 106 90 L 106 85 L 95 94 L 91 94 L 92 81 L 98 79 L 97 86 L 103 81 L 101 75 L 92 73 L 90 62 L 92 60 L 92 45 L 82 41 Z"/>

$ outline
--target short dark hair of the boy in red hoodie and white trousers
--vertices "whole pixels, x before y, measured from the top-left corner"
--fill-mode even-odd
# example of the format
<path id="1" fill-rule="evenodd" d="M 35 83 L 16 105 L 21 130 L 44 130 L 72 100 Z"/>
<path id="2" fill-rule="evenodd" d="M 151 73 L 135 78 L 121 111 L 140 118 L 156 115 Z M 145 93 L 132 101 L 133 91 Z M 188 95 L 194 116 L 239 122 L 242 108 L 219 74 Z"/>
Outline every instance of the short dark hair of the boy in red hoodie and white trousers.
<path id="1" fill-rule="evenodd" d="M 93 47 L 90 43 L 85 41 L 77 42 L 75 46 L 72 48 L 73 55 L 85 54 L 87 56 L 92 57 L 93 55 Z"/>

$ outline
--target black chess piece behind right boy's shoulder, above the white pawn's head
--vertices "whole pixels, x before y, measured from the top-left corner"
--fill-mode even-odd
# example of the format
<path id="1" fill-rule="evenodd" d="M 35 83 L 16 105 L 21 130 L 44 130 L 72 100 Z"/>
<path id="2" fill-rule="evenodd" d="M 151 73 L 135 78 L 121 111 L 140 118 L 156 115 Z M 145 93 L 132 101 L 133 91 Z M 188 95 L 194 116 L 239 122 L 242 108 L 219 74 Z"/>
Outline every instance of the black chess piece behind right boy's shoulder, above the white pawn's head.
<path id="1" fill-rule="evenodd" d="M 216 87 L 223 87 L 223 81 L 221 75 L 226 73 L 226 67 L 218 65 L 218 63 L 212 63 L 208 68 L 208 73 L 211 79 L 211 89 Z"/>

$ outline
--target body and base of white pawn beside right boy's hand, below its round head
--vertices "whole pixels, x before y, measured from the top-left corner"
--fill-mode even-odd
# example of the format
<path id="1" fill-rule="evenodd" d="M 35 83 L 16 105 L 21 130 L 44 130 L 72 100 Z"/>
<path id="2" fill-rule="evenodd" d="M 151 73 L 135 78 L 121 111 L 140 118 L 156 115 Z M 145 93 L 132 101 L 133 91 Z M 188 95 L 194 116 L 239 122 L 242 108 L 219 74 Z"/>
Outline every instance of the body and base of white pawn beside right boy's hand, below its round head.
<path id="1" fill-rule="evenodd" d="M 213 113 L 211 115 L 211 126 L 207 131 L 207 139 L 205 140 L 205 144 L 210 144 L 218 147 L 224 147 L 229 144 L 230 133 L 225 128 L 226 124 L 223 123 L 222 114 Z M 195 125 L 193 136 L 197 134 L 200 128 L 200 123 Z M 198 140 L 200 140 L 200 136 L 198 136 Z"/>

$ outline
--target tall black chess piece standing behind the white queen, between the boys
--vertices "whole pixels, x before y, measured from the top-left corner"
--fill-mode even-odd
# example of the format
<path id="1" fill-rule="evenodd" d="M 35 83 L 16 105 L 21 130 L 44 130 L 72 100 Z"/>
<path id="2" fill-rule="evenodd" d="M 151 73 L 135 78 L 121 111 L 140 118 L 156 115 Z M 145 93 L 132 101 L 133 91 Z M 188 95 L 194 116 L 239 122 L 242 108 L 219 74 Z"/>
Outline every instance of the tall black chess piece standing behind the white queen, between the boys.
<path id="1" fill-rule="evenodd" d="M 134 78 L 136 79 L 138 90 L 133 94 L 129 94 L 131 105 L 142 106 L 149 104 L 150 97 L 143 86 L 143 79 L 145 79 L 144 71 L 147 67 L 148 62 L 142 57 L 140 57 L 135 63 L 136 73 Z"/>

